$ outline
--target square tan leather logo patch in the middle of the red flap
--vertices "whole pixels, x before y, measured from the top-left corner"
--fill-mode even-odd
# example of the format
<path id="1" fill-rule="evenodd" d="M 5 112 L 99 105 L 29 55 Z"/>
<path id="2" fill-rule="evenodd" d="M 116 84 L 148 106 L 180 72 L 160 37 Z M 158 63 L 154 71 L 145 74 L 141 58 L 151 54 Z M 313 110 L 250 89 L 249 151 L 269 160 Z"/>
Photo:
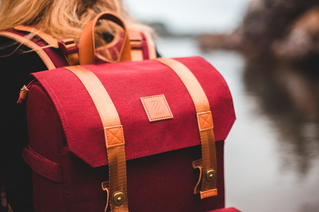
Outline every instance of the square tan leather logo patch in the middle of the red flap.
<path id="1" fill-rule="evenodd" d="M 164 94 L 141 97 L 141 101 L 150 122 L 173 119 L 173 114 L 167 104 Z"/>

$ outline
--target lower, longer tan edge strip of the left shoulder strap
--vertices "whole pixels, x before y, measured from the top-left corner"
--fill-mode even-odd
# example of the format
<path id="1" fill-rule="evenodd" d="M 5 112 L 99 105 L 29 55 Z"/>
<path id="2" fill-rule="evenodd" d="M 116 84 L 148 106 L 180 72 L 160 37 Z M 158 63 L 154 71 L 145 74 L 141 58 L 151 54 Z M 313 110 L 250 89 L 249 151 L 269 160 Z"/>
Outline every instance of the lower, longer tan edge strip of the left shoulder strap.
<path id="1" fill-rule="evenodd" d="M 56 66 L 53 64 L 48 54 L 43 49 L 41 49 L 37 44 L 35 44 L 33 41 L 8 31 L 0 31 L 0 36 L 11 38 L 13 40 L 18 41 L 19 43 L 26 45 L 27 47 L 33 49 L 39 55 L 39 57 L 42 59 L 43 63 L 47 66 L 48 69 L 56 68 Z"/>

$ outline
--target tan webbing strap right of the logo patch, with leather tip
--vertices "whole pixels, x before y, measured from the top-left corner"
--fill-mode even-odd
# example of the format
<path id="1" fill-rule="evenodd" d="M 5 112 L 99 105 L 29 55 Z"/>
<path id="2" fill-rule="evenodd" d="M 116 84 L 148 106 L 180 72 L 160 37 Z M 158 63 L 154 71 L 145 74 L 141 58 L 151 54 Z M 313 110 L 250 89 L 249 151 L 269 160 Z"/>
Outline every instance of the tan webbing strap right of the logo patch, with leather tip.
<path id="1" fill-rule="evenodd" d="M 157 58 L 179 76 L 191 96 L 196 113 L 199 135 L 202 144 L 203 170 L 201 199 L 217 195 L 216 188 L 216 149 L 213 132 L 213 121 L 206 94 L 194 74 L 181 62 L 171 58 Z"/>

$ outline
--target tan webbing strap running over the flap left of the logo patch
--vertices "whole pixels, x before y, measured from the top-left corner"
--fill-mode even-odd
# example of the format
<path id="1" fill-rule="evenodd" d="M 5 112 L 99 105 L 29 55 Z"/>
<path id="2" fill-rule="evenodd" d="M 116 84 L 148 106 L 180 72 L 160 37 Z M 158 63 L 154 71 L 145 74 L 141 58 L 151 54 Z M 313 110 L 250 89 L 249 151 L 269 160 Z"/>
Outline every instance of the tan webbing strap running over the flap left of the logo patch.
<path id="1" fill-rule="evenodd" d="M 108 92 L 93 72 L 81 66 L 67 66 L 64 68 L 74 73 L 81 80 L 100 114 L 108 151 L 110 195 L 112 196 L 110 201 L 111 212 L 128 211 L 125 141 L 123 127 L 116 108 Z"/>

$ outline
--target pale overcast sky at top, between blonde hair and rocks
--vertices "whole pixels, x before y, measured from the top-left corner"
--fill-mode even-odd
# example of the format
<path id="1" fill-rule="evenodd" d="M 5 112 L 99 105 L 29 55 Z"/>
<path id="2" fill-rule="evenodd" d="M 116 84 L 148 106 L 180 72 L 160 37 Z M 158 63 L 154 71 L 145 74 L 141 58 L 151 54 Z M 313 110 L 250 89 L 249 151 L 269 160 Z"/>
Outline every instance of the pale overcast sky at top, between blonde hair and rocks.
<path id="1" fill-rule="evenodd" d="M 142 22 L 162 22 L 172 33 L 231 32 L 250 0 L 123 0 Z"/>

